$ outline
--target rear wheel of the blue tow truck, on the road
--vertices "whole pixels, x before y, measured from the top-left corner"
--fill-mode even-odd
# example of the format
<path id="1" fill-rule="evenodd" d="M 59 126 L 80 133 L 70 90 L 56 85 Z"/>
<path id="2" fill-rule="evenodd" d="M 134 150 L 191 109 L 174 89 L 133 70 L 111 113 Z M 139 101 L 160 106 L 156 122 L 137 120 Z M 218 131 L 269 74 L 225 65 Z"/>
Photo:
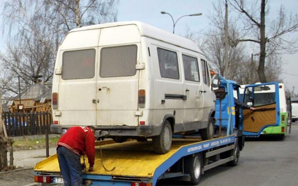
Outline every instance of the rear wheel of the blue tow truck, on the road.
<path id="1" fill-rule="evenodd" d="M 185 159 L 185 173 L 190 175 L 190 185 L 197 185 L 202 174 L 201 154 L 193 154 Z"/>

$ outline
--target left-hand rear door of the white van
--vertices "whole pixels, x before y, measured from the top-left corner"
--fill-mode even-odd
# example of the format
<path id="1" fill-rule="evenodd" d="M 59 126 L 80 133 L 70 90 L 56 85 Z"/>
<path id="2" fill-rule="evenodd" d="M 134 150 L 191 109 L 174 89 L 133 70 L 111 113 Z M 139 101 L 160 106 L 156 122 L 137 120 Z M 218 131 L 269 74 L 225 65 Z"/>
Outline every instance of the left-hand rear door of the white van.
<path id="1" fill-rule="evenodd" d="M 60 125 L 95 125 L 98 41 L 94 38 L 99 33 L 99 29 L 70 32 L 59 47 L 52 91 L 58 94 L 53 119 Z"/>

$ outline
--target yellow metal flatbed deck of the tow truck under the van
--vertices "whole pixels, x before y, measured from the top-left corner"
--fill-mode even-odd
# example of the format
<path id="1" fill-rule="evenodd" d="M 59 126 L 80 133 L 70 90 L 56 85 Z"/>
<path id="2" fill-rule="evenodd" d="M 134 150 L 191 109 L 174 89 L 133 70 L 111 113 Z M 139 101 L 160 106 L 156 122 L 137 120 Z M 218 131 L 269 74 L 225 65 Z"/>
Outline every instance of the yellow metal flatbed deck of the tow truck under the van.
<path id="1" fill-rule="evenodd" d="M 200 139 L 173 139 L 171 149 L 166 154 L 156 154 L 153 150 L 152 141 L 126 141 L 124 143 L 106 144 L 101 147 L 96 146 L 95 171 L 86 174 L 150 178 L 153 176 L 154 170 L 179 148 L 200 141 Z M 102 149 L 103 165 L 108 170 L 115 167 L 114 170 L 106 171 L 102 166 L 100 148 Z M 83 158 L 81 162 L 83 162 Z M 85 162 L 86 166 L 89 167 L 86 156 Z M 59 173 L 57 154 L 37 163 L 34 171 Z"/>

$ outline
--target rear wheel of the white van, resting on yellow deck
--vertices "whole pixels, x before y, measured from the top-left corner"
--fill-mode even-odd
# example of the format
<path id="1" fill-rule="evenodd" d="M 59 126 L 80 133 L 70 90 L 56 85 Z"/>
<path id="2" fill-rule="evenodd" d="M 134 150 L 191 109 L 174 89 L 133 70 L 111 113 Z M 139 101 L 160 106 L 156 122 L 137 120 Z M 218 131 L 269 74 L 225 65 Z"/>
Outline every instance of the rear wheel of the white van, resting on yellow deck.
<path id="1" fill-rule="evenodd" d="M 152 138 L 154 151 L 157 154 L 167 153 L 172 145 L 172 128 L 168 120 L 163 124 L 160 135 Z"/>

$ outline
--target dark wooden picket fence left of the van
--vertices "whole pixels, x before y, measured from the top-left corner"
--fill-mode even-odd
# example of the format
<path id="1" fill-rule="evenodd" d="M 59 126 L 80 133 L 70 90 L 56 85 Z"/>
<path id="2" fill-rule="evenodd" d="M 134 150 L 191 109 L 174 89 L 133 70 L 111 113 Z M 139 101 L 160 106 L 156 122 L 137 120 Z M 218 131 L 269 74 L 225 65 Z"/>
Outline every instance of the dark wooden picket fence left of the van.
<path id="1" fill-rule="evenodd" d="M 4 112 L 2 117 L 9 137 L 46 134 L 50 132 L 50 125 L 53 123 L 49 112 Z"/>

